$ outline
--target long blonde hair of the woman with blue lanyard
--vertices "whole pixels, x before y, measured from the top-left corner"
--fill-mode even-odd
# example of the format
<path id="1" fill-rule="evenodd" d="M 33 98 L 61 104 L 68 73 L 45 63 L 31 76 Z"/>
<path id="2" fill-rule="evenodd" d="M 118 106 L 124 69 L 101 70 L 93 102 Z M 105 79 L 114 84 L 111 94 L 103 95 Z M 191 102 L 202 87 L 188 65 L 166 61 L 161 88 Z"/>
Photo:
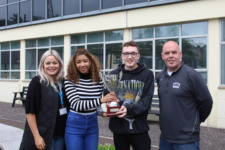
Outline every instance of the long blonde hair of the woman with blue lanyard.
<path id="1" fill-rule="evenodd" d="M 63 78 L 64 78 L 63 61 L 62 61 L 61 57 L 59 56 L 59 53 L 56 52 L 55 50 L 48 50 L 41 56 L 41 60 L 39 63 L 39 68 L 38 68 L 38 75 L 41 78 L 40 82 L 42 82 L 42 81 L 46 82 L 47 86 L 50 84 L 55 89 L 55 91 L 57 91 L 57 88 L 54 86 L 54 79 L 52 77 L 50 77 L 44 71 L 44 62 L 48 56 L 54 56 L 56 58 L 56 60 L 59 62 L 59 72 L 57 73 L 56 81 L 58 82 L 58 81 L 63 80 Z"/>

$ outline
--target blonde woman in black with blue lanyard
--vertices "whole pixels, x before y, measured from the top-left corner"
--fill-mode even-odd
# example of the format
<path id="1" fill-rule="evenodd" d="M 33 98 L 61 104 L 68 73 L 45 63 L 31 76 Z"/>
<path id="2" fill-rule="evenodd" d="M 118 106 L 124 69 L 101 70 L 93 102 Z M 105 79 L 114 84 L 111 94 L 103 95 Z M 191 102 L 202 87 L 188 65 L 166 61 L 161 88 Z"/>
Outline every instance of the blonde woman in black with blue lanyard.
<path id="1" fill-rule="evenodd" d="M 38 76 L 28 88 L 25 124 L 20 150 L 63 150 L 68 102 L 63 86 L 63 62 L 54 50 L 40 60 Z"/>

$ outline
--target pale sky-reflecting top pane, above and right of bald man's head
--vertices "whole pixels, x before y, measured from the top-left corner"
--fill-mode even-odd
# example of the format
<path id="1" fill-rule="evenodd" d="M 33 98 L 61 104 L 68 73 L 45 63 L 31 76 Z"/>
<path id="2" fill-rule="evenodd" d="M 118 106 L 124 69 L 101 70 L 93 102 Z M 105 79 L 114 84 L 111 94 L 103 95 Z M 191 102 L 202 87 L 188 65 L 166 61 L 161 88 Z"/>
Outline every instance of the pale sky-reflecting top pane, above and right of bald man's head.
<path id="1" fill-rule="evenodd" d="M 182 35 L 201 35 L 208 33 L 207 22 L 196 22 L 182 24 Z"/>

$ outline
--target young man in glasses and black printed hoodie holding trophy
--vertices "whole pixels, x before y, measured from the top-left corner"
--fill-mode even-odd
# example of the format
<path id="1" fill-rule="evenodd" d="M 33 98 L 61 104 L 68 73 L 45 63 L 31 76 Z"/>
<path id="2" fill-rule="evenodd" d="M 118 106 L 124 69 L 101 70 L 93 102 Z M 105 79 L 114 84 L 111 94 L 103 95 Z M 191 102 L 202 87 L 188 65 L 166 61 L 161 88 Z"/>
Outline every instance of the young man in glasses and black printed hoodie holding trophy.
<path id="1" fill-rule="evenodd" d="M 110 75 L 119 75 L 115 94 L 121 106 L 109 121 L 114 144 L 116 150 L 129 150 L 130 146 L 134 150 L 150 150 L 147 115 L 154 93 L 154 76 L 144 64 L 137 63 L 140 53 L 136 42 L 123 44 L 121 58 L 124 64 L 110 72 Z M 108 88 L 106 93 L 109 91 Z M 103 116 L 110 115 L 104 113 Z"/>

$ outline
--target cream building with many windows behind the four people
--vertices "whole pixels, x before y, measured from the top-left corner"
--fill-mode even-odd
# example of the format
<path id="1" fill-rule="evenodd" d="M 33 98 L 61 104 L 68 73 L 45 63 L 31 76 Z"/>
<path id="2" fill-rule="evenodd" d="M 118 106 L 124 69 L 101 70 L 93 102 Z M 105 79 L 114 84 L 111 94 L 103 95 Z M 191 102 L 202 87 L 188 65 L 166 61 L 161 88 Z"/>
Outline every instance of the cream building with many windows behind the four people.
<path id="1" fill-rule="evenodd" d="M 157 75 L 165 68 L 162 46 L 173 40 L 213 97 L 203 126 L 225 128 L 224 6 L 225 0 L 0 0 L 0 101 L 12 103 L 13 92 L 28 86 L 46 50 L 59 52 L 66 73 L 74 51 L 86 48 L 108 74 L 122 63 L 122 44 L 134 40 L 139 62 Z"/>

